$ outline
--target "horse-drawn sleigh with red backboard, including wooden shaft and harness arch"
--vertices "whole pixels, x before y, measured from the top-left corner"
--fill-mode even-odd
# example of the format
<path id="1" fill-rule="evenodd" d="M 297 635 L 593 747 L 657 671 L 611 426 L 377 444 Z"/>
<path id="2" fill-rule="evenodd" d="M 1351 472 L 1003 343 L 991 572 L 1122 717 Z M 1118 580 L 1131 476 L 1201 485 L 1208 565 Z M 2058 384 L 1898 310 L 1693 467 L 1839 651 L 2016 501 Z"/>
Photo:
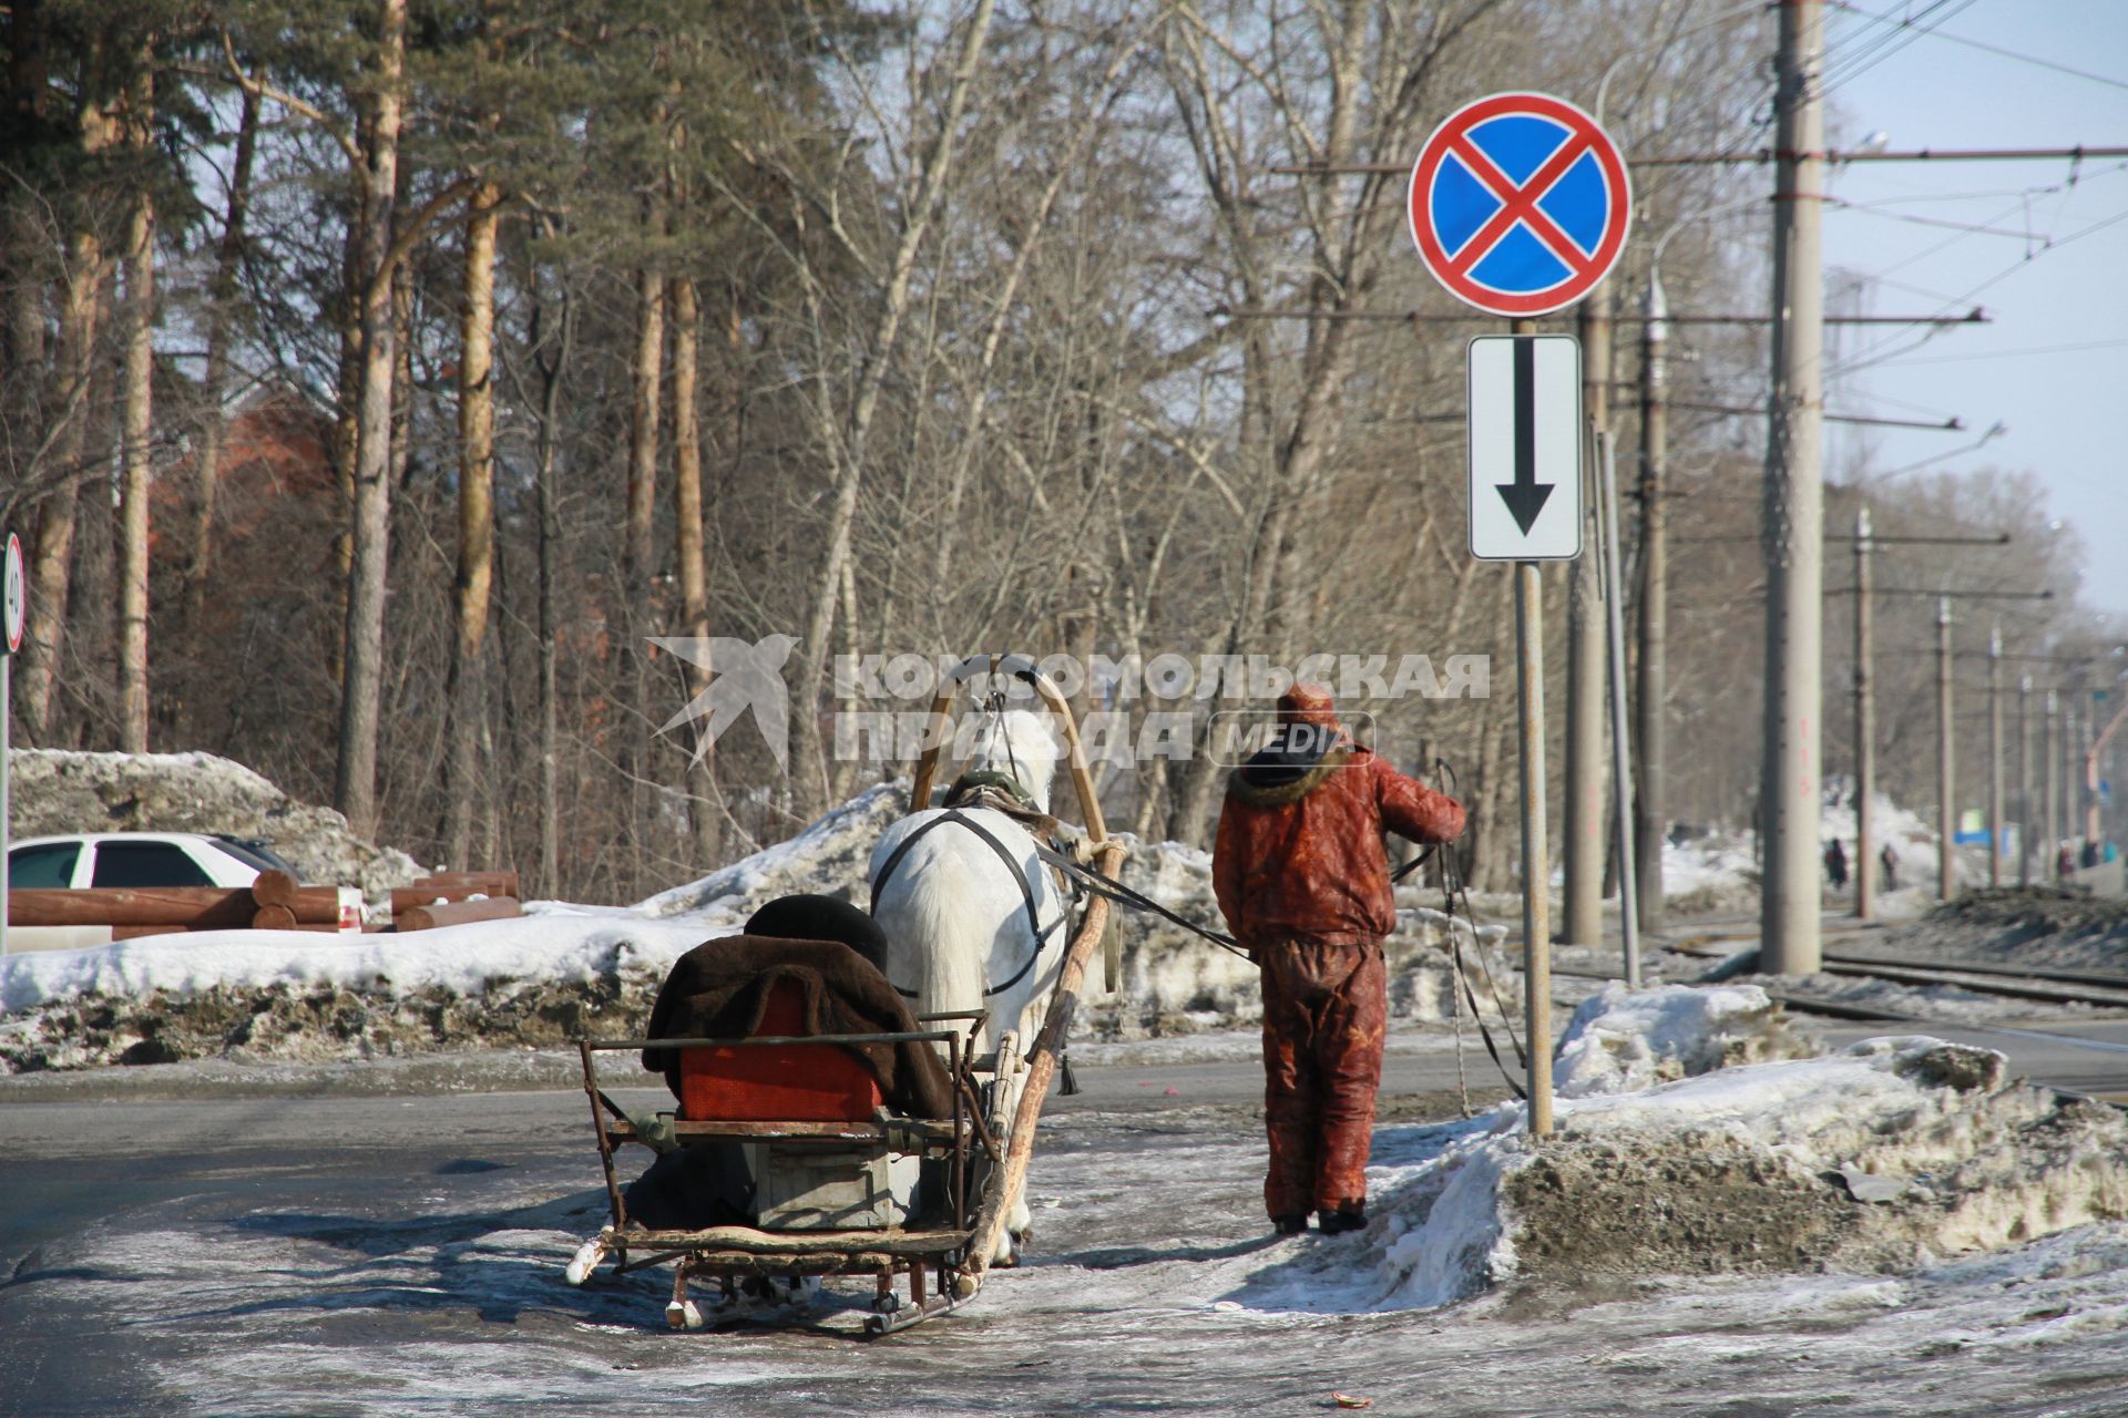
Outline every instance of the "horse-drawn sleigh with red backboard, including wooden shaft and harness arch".
<path id="1" fill-rule="evenodd" d="M 1032 685 L 1055 714 L 1087 842 L 1094 844 L 1094 865 L 1113 876 L 1124 850 L 1107 840 L 1070 708 L 1032 661 L 996 655 L 964 661 L 941 687 L 932 714 L 943 719 L 958 689 L 981 672 Z M 932 742 L 945 738 L 932 736 Z M 932 746 L 917 763 L 911 816 L 928 808 L 936 770 L 938 748 Z M 1019 889 L 1026 891 L 1026 882 Z M 1034 929 L 1032 897 L 1028 901 Z M 804 1280 L 868 1276 L 877 1286 L 864 1324 L 868 1335 L 907 1329 L 972 1299 L 990 1265 L 1015 1254 L 1009 1227 L 1013 1212 L 1024 1212 L 1019 1195 L 1036 1120 L 1107 921 L 1109 901 L 1090 897 L 1068 931 L 1055 974 L 1041 972 L 1049 991 L 1047 1010 L 1024 1052 L 1013 1018 L 998 1018 L 994 1048 L 977 1052 L 975 1042 L 992 1023 L 990 995 L 1000 991 L 985 991 L 985 1008 L 919 1014 L 917 1031 L 785 1033 L 781 1029 L 794 1016 L 787 1008 L 777 1012 L 777 1001 L 770 1001 L 762 1027 L 747 1037 L 579 1042 L 611 1220 L 570 1261 L 570 1284 L 583 1284 L 609 1259 L 615 1273 L 670 1263 L 666 1322 L 672 1329 L 709 1322 L 689 1295 L 696 1282 L 715 1282 L 719 1301 L 732 1303 L 777 1284 L 796 1288 Z M 1047 931 L 1032 940 L 1036 955 L 1043 952 L 1043 935 Z M 1055 950 L 1053 944 L 1049 948 Z M 1111 952 L 1111 986 L 1115 976 Z M 1000 1003 L 1004 1014 L 1013 1012 L 1011 997 Z M 890 1110 L 877 1078 L 851 1054 L 853 1048 L 911 1044 L 943 1054 L 951 1084 L 947 1116 Z M 630 1114 L 606 1093 L 600 1057 L 621 1050 L 668 1050 L 679 1059 L 677 1110 Z M 645 1052 L 645 1063 L 649 1057 Z M 749 1225 L 658 1229 L 630 1216 L 615 1157 L 632 1146 L 658 1152 L 743 1150 L 751 1174 Z M 904 1284 L 907 1297 L 898 1284 Z"/>

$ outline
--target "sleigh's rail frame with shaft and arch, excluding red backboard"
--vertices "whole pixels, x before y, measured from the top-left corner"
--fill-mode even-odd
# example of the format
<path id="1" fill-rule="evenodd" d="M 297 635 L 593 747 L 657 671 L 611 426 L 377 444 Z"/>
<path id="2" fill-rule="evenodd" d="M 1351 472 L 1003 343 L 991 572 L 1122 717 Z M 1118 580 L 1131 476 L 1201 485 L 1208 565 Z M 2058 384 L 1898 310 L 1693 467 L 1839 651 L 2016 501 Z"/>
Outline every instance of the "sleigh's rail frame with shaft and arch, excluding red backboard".
<path id="1" fill-rule="evenodd" d="M 1085 818 L 1087 838 L 1100 844 L 1096 870 L 1115 876 L 1121 867 L 1124 848 L 1109 842 L 1094 793 L 1094 778 L 1087 770 L 1085 750 L 1079 742 L 1079 725 L 1070 704 L 1032 659 L 1024 655 L 975 655 L 964 659 L 938 687 L 932 702 L 932 729 L 928 748 L 917 759 L 915 784 L 909 795 L 909 810 L 930 806 L 932 782 L 938 774 L 941 746 L 951 742 L 949 733 L 936 731 L 949 723 L 953 697 L 970 676 L 1011 676 L 1028 682 L 1043 704 L 1062 721 L 1073 787 Z M 606 1256 L 615 1259 L 615 1273 L 630 1273 L 651 1265 L 677 1263 L 672 1278 L 672 1301 L 666 1305 L 666 1320 L 675 1329 L 702 1327 L 702 1314 L 687 1297 L 692 1280 L 717 1278 L 726 1290 L 743 1278 L 770 1276 L 872 1276 L 877 1293 L 872 1312 L 866 1316 L 866 1335 L 885 1335 L 917 1324 L 934 1314 L 943 1314 L 958 1303 L 972 1299 L 990 1269 L 990 1259 L 998 1250 L 1007 1225 L 1007 1203 L 1026 1182 L 1028 1163 L 1034 1152 L 1034 1129 L 1049 1080 L 1055 1074 L 1058 1057 L 1070 1031 L 1073 1014 L 1079 1006 L 1085 969 L 1094 950 L 1102 944 L 1109 925 L 1109 901 L 1100 895 L 1087 899 L 1085 914 L 1064 950 L 1051 1006 L 1036 1031 L 1026 1057 L 1017 1057 L 1017 1040 L 1000 1035 L 1000 1048 L 987 1057 L 970 1057 L 958 1029 L 926 1029 L 921 1033 L 855 1033 L 855 1035 L 811 1035 L 811 1037 L 751 1037 L 751 1040 L 579 1040 L 577 1050 L 583 1063 L 583 1088 L 592 1103 L 592 1127 L 598 1137 L 598 1157 L 604 1169 L 606 1201 L 613 1220 L 579 1252 L 570 1265 L 570 1278 L 581 1280 Z M 1107 952 L 1107 980 L 1115 989 L 1119 961 L 1115 944 Z M 972 1037 L 985 1012 L 930 1014 L 924 1025 L 966 1020 Z M 953 1116 L 894 1118 L 883 1110 L 872 1120 L 849 1122 L 719 1122 L 685 1120 L 666 1122 L 660 1116 L 660 1131 L 670 1127 L 670 1137 L 681 1142 L 777 1142 L 777 1144 L 872 1144 L 883 1152 L 915 1154 L 943 1161 L 949 1171 L 947 1212 L 949 1225 L 885 1227 L 862 1231 L 762 1231 L 753 1227 L 713 1227 L 706 1231 L 651 1231 L 628 1218 L 628 1205 L 613 1152 L 621 1144 L 649 1142 L 638 1133 L 636 1122 L 606 1093 L 598 1076 L 598 1054 L 628 1052 L 643 1048 L 747 1048 L 772 1044 L 838 1046 L 838 1044 L 943 1044 L 947 1071 L 953 1084 Z M 996 1099 L 1007 1091 L 1000 1086 L 1009 1071 L 1026 1069 L 1028 1080 L 1019 1095 L 1019 1105 L 1011 1118 L 1002 1116 Z M 1002 1071 L 1000 1071 L 1002 1069 Z M 990 1088 L 985 1093 L 985 1086 Z M 994 1099 L 985 1105 L 985 1097 Z M 907 1303 L 896 1293 L 896 1278 L 909 1282 Z"/>

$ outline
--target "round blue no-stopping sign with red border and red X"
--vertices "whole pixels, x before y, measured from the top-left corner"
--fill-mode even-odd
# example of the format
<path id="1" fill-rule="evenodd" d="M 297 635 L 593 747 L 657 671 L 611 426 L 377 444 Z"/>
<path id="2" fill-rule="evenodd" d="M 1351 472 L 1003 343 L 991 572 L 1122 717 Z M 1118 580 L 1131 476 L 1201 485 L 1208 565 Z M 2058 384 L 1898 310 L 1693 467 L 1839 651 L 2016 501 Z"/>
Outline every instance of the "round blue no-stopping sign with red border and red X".
<path id="1" fill-rule="evenodd" d="M 1581 108 L 1494 94 L 1419 149 L 1407 210 L 1419 257 L 1451 296 L 1490 315 L 1545 315 L 1617 264 L 1632 189 L 1617 145 Z"/>

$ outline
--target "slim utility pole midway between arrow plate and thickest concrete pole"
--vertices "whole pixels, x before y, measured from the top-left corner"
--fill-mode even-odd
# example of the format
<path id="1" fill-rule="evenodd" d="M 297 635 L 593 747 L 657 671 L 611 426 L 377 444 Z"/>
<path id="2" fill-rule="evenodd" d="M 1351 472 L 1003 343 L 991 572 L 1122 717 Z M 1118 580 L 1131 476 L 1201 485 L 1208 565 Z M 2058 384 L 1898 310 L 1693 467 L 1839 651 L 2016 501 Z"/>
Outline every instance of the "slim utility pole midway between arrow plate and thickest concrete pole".
<path id="1" fill-rule="evenodd" d="M 1632 804 L 1632 867 L 1639 872 L 1641 929 L 1662 929 L 1662 833 L 1668 827 L 1666 755 L 1662 721 L 1668 697 L 1668 600 L 1670 600 L 1670 529 L 1662 504 L 1664 463 L 1670 457 L 1670 321 L 1662 293 L 1662 272 L 1647 272 L 1647 323 L 1641 327 L 1641 663 L 1636 665 L 1634 699 L 1639 723 L 1634 740 L 1641 748 L 1641 784 Z M 1619 784 L 1630 791 L 1630 784 Z"/>

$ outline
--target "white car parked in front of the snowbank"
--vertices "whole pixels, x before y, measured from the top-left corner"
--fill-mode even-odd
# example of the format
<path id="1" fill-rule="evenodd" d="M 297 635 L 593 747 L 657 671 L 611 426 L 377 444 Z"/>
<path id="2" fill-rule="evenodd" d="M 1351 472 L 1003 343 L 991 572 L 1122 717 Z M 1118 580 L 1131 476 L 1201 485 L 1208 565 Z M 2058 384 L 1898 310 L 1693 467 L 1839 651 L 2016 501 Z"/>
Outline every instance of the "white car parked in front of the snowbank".
<path id="1" fill-rule="evenodd" d="M 9 891 L 49 887 L 249 887 L 260 872 L 294 867 L 260 842 L 198 831 L 89 831 L 23 838 L 6 853 Z M 343 889 L 340 927 L 362 929 L 362 893 Z M 353 921 L 349 925 L 349 897 Z M 79 950 L 111 944 L 109 925 L 11 925 L 9 950 Z"/>

